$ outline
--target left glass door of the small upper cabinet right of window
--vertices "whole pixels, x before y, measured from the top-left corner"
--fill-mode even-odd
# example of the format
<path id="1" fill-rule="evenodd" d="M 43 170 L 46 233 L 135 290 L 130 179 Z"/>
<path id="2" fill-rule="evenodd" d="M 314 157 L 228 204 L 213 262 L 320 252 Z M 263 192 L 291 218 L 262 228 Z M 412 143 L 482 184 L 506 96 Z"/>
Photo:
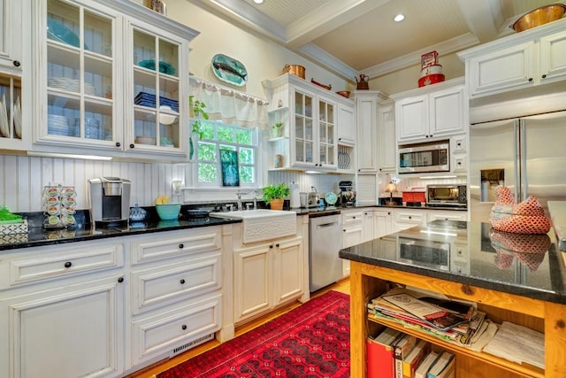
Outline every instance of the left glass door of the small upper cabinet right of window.
<path id="1" fill-rule="evenodd" d="M 294 160 L 314 163 L 313 96 L 294 92 Z"/>

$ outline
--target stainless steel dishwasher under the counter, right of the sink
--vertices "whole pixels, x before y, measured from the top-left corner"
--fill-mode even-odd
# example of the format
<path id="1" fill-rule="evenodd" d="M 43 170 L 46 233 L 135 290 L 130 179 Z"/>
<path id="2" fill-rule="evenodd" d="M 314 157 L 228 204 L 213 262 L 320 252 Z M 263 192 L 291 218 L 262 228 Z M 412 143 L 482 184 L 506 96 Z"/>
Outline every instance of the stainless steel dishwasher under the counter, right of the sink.
<path id="1" fill-rule="evenodd" d="M 324 288 L 342 278 L 340 213 L 313 214 L 310 217 L 310 292 Z"/>

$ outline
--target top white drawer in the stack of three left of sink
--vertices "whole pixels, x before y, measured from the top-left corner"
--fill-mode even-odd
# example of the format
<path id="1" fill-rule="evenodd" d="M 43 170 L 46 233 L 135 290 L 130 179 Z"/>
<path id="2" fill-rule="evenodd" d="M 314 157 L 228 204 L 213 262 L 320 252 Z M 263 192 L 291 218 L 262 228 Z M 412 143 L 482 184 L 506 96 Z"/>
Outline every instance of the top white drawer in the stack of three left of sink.
<path id="1" fill-rule="evenodd" d="M 220 250 L 221 232 L 222 228 L 210 227 L 143 236 L 132 241 L 132 264 Z"/>

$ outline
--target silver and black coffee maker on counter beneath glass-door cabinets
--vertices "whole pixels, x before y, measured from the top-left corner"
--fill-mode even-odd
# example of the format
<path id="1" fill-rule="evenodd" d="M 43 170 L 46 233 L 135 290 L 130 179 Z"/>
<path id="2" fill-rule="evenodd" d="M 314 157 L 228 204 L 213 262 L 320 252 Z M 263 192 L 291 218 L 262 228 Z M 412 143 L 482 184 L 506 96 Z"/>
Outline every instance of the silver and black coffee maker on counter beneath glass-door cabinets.
<path id="1" fill-rule="evenodd" d="M 131 182 L 119 177 L 88 180 L 92 223 L 111 226 L 126 222 L 130 215 Z"/>

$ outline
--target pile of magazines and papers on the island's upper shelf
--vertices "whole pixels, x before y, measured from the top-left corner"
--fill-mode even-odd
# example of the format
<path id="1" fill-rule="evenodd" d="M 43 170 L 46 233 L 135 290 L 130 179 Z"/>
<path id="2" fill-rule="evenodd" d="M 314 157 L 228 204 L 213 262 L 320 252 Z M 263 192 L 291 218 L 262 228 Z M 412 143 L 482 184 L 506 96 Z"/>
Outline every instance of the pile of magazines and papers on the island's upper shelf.
<path id="1" fill-rule="evenodd" d="M 391 289 L 372 299 L 368 312 L 447 342 L 470 347 L 488 325 L 486 313 L 477 311 L 475 305 L 424 297 L 403 288 Z"/>

